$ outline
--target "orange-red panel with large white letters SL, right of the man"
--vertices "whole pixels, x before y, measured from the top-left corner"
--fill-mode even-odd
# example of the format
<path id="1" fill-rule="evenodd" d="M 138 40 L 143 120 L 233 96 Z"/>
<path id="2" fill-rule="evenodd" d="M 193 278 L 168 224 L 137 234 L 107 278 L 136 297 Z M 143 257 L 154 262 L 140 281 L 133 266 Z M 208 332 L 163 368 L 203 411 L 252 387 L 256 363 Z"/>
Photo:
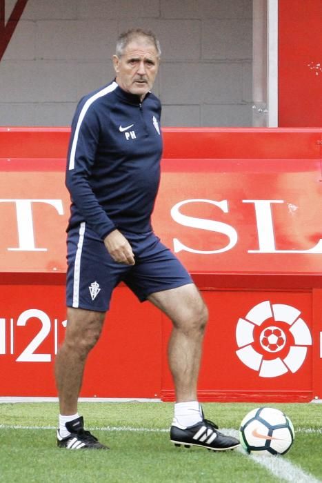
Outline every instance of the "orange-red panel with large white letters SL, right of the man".
<path id="1" fill-rule="evenodd" d="M 287 166 L 164 160 L 154 228 L 192 273 L 321 273 L 319 162 Z"/>

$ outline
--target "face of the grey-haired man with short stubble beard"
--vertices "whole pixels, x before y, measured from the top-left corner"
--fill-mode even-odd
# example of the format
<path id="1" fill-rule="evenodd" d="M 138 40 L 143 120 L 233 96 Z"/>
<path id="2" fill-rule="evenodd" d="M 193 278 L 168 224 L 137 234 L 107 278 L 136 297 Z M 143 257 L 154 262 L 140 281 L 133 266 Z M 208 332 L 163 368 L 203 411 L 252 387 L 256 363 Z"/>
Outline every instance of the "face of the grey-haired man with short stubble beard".
<path id="1" fill-rule="evenodd" d="M 117 83 L 141 101 L 152 89 L 159 68 L 159 57 L 154 44 L 146 37 L 137 37 L 125 47 L 123 55 L 113 56 Z"/>

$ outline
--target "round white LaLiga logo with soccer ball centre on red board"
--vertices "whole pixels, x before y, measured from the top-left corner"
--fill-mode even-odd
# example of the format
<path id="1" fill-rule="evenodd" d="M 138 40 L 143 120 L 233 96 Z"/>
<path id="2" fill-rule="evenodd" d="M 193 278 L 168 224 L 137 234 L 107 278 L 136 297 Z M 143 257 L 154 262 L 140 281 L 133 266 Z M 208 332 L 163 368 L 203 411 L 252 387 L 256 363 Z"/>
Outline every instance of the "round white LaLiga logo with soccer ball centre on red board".
<path id="1" fill-rule="evenodd" d="M 312 345 L 310 330 L 299 315 L 297 308 L 269 300 L 255 305 L 237 323 L 236 353 L 241 362 L 259 371 L 260 377 L 299 371 Z"/>

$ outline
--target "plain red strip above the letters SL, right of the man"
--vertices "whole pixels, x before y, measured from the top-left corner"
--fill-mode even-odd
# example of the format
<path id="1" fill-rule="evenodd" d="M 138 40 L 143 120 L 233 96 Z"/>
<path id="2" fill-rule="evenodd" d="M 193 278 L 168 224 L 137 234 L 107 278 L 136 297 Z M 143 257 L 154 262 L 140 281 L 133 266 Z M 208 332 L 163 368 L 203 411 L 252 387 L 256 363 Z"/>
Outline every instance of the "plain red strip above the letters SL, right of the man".
<path id="1" fill-rule="evenodd" d="M 165 159 L 316 159 L 321 129 L 165 128 Z"/>

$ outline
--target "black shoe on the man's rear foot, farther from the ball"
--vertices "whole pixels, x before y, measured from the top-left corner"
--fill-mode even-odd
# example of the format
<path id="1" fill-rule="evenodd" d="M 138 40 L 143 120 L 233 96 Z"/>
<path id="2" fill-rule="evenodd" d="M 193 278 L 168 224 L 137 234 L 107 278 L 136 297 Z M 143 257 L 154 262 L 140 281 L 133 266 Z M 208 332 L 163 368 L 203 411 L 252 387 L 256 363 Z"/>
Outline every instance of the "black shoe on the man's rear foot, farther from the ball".
<path id="1" fill-rule="evenodd" d="M 66 423 L 66 428 L 70 431 L 70 435 L 61 437 L 59 430 L 57 431 L 57 446 L 67 449 L 110 449 L 108 446 L 101 444 L 97 437 L 94 437 L 90 431 L 84 431 L 83 416 L 77 417 Z"/>

